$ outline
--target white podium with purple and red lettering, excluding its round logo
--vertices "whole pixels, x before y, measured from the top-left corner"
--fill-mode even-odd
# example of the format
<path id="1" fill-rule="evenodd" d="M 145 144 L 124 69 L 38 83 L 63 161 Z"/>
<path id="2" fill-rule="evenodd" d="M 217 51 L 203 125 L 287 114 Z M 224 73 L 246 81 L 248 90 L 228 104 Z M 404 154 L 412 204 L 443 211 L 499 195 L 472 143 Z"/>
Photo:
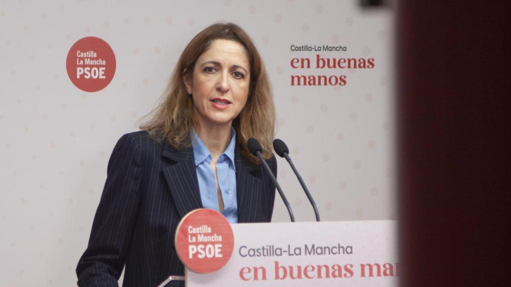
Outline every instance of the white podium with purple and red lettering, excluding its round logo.
<path id="1" fill-rule="evenodd" d="M 197 226 L 207 226 L 207 223 Z M 184 278 L 174 279 L 184 280 L 187 287 L 398 285 L 396 221 L 230 226 L 234 244 L 230 258 L 224 258 L 228 259 L 224 266 L 211 273 L 185 267 Z M 185 260 L 182 261 L 186 266 Z"/>

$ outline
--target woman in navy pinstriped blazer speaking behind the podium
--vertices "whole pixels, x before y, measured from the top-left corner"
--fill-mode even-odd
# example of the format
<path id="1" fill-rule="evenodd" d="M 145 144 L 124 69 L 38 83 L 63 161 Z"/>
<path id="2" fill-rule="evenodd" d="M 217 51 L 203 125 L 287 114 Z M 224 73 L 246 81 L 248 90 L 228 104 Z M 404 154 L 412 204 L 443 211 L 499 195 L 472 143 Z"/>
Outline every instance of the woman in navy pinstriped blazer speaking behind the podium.
<path id="1" fill-rule="evenodd" d="M 262 59 L 232 23 L 214 24 L 184 49 L 168 93 L 142 131 L 115 145 L 80 286 L 156 286 L 182 275 L 174 232 L 189 211 L 219 210 L 231 223 L 269 222 L 275 187 L 246 142 L 271 153 L 275 112 Z"/>

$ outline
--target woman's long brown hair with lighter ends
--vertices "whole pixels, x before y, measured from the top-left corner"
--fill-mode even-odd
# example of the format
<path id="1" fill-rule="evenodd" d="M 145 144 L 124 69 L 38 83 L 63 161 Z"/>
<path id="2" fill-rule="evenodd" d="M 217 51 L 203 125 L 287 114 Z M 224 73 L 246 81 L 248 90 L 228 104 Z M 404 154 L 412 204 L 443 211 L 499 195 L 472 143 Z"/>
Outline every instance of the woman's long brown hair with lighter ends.
<path id="1" fill-rule="evenodd" d="M 245 107 L 234 119 L 237 144 L 241 153 L 253 163 L 257 157 L 248 151 L 247 140 L 253 137 L 261 143 L 263 157 L 272 155 L 271 145 L 275 129 L 275 107 L 266 69 L 248 34 L 233 23 L 215 23 L 197 34 L 184 48 L 177 62 L 168 87 L 160 103 L 143 117 L 142 130 L 158 141 L 166 140 L 174 149 L 182 150 L 192 145 L 190 131 L 199 129 L 193 99 L 184 86 L 184 78 L 193 75 L 195 62 L 210 44 L 217 39 L 240 43 L 247 52 L 250 63 L 250 85 Z"/>

